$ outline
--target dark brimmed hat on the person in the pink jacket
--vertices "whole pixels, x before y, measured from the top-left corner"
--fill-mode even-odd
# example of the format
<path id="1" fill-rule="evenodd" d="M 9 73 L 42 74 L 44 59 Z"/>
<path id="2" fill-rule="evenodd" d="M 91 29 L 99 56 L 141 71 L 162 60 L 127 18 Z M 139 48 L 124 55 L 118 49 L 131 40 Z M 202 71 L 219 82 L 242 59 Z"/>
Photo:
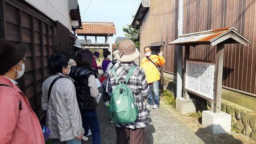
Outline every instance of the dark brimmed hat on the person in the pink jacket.
<path id="1" fill-rule="evenodd" d="M 24 44 L 14 45 L 8 40 L 0 38 L 0 73 L 6 72 L 18 64 L 26 53 Z"/>

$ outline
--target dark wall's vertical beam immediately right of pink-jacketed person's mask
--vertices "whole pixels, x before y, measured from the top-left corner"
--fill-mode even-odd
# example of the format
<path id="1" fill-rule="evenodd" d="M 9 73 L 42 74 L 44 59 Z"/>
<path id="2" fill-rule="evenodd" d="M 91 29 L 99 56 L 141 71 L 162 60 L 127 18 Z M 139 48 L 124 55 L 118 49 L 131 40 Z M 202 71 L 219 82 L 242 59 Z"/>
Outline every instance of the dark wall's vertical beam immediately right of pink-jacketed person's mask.
<path id="1" fill-rule="evenodd" d="M 38 115 L 38 104 L 36 101 L 37 98 L 37 90 L 36 90 L 36 86 L 37 86 L 37 82 L 36 82 L 36 62 L 35 62 L 35 35 L 34 35 L 34 16 L 31 16 L 31 20 L 30 20 L 30 24 L 31 24 L 31 53 L 32 53 L 32 68 L 33 68 L 33 91 L 34 91 L 34 105 L 35 105 L 35 113 Z"/>

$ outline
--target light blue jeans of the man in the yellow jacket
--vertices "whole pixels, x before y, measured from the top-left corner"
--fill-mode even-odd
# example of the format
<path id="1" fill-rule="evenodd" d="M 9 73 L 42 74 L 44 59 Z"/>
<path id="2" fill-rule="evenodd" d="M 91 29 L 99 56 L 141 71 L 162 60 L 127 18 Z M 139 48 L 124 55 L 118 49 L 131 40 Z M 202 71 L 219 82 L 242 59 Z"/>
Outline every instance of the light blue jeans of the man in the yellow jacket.
<path id="1" fill-rule="evenodd" d="M 153 82 L 151 85 L 149 85 L 149 94 L 148 94 L 148 104 L 153 106 L 154 105 L 154 100 L 152 96 L 152 90 L 154 92 L 154 97 L 155 97 L 155 105 L 159 106 L 159 82 Z"/>

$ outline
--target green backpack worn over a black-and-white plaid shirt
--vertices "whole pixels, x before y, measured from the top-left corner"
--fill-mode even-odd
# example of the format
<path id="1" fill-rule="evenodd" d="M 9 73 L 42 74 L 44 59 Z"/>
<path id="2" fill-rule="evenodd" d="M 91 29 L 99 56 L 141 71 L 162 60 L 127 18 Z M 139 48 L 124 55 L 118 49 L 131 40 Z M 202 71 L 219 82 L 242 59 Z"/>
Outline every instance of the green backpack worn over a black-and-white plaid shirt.
<path id="1" fill-rule="evenodd" d="M 124 83 L 120 83 L 120 79 L 117 78 L 115 68 L 112 68 L 112 73 L 116 78 L 116 82 L 119 83 L 114 87 L 111 93 L 110 106 L 108 109 L 108 115 L 115 123 L 134 123 L 138 116 L 138 106 L 135 103 L 132 90 L 126 85 L 132 75 L 132 72 L 136 66 L 132 66 L 128 72 Z"/>

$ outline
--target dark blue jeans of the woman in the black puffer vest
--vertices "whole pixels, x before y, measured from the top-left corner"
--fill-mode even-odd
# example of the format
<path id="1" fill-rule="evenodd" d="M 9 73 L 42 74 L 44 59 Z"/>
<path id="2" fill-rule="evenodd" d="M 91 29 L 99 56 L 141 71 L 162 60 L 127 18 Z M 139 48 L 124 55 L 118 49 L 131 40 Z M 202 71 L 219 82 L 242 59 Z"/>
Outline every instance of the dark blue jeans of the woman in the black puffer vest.
<path id="1" fill-rule="evenodd" d="M 92 132 L 92 144 L 100 144 L 100 125 L 96 109 L 89 112 L 81 112 L 84 136 L 88 134 L 88 125 Z"/>

